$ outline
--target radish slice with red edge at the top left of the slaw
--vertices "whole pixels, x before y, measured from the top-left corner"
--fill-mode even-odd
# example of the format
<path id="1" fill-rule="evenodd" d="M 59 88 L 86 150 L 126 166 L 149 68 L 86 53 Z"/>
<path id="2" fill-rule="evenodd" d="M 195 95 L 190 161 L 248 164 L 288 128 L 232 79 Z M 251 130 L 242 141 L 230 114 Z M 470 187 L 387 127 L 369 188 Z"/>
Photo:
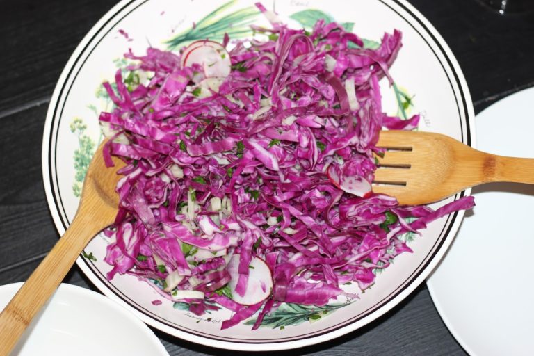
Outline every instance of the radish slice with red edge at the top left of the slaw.
<path id="1" fill-rule="evenodd" d="M 213 41 L 193 42 L 184 50 L 181 56 L 182 67 L 190 67 L 195 63 L 202 66 L 207 78 L 226 77 L 232 68 L 228 51 Z"/>

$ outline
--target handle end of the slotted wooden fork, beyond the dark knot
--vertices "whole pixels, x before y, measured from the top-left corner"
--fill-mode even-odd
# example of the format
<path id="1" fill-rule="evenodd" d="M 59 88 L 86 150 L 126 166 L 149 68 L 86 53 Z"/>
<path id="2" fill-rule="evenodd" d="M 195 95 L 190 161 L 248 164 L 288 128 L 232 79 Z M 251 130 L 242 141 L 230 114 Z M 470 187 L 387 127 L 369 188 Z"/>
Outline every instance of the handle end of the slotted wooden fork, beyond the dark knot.
<path id="1" fill-rule="evenodd" d="M 494 156 L 487 161 L 489 170 L 494 170 L 492 181 L 534 184 L 534 159 Z"/>

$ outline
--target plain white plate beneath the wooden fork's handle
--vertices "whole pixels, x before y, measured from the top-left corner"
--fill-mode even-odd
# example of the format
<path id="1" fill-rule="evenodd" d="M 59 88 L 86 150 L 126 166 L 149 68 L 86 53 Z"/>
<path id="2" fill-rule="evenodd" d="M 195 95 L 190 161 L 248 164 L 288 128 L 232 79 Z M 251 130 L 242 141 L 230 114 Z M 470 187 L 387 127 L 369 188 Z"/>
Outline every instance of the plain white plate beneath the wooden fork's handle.
<path id="1" fill-rule="evenodd" d="M 480 113 L 478 148 L 534 157 L 533 102 L 530 88 Z M 469 354 L 534 355 L 534 186 L 488 184 L 472 194 L 476 207 L 429 278 L 430 295 Z"/>

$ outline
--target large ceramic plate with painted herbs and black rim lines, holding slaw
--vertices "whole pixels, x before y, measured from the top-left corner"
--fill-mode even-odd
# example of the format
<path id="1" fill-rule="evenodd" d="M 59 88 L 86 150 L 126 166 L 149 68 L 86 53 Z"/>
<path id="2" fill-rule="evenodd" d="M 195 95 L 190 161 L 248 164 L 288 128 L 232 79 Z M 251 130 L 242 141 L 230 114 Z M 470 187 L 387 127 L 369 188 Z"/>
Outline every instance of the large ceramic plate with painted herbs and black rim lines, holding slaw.
<path id="1" fill-rule="evenodd" d="M 474 114 L 462 72 L 437 31 L 405 1 L 355 0 L 349 5 L 343 0 L 268 0 L 264 6 L 275 9 L 290 26 L 309 27 L 319 18 L 340 22 L 366 38 L 367 46 L 376 45 L 386 31 L 401 30 L 403 49 L 390 71 L 396 85 L 381 82 L 383 107 L 391 115 L 421 113 L 419 129 L 473 144 Z M 144 54 L 151 45 L 179 48 L 204 38 L 207 32 L 215 40 L 222 38 L 224 31 L 232 38 L 252 36 L 248 27 L 252 23 L 268 26 L 254 8 L 254 0 L 124 0 L 95 25 L 60 76 L 44 129 L 44 184 L 61 234 L 72 221 L 85 170 L 101 140 L 98 113 L 111 108 L 102 82 L 112 80 L 118 67 L 124 67 L 122 54 L 130 48 Z M 296 348 L 356 330 L 398 304 L 437 264 L 462 216 L 459 212 L 437 220 L 422 236 L 404 236 L 414 253 L 398 256 L 359 299 L 333 301 L 325 307 L 282 305 L 255 332 L 250 330 L 254 316 L 220 330 L 221 322 L 231 315 L 227 310 L 199 317 L 184 303 L 153 305 L 156 292 L 135 277 L 106 280 L 110 266 L 104 262 L 108 243 L 104 236 L 97 236 L 77 263 L 103 293 L 168 334 L 236 350 Z"/>

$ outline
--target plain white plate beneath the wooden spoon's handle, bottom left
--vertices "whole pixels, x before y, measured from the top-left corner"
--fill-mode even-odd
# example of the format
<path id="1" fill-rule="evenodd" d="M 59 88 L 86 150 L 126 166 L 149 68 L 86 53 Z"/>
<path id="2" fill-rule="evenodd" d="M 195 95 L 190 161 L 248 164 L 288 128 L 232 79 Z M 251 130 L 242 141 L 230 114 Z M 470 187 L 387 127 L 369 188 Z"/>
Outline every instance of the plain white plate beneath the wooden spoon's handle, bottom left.
<path id="1" fill-rule="evenodd" d="M 21 286 L 22 283 L 0 286 L 0 309 Z M 89 289 L 61 284 L 11 355 L 169 354 L 154 332 L 124 307 Z"/>

